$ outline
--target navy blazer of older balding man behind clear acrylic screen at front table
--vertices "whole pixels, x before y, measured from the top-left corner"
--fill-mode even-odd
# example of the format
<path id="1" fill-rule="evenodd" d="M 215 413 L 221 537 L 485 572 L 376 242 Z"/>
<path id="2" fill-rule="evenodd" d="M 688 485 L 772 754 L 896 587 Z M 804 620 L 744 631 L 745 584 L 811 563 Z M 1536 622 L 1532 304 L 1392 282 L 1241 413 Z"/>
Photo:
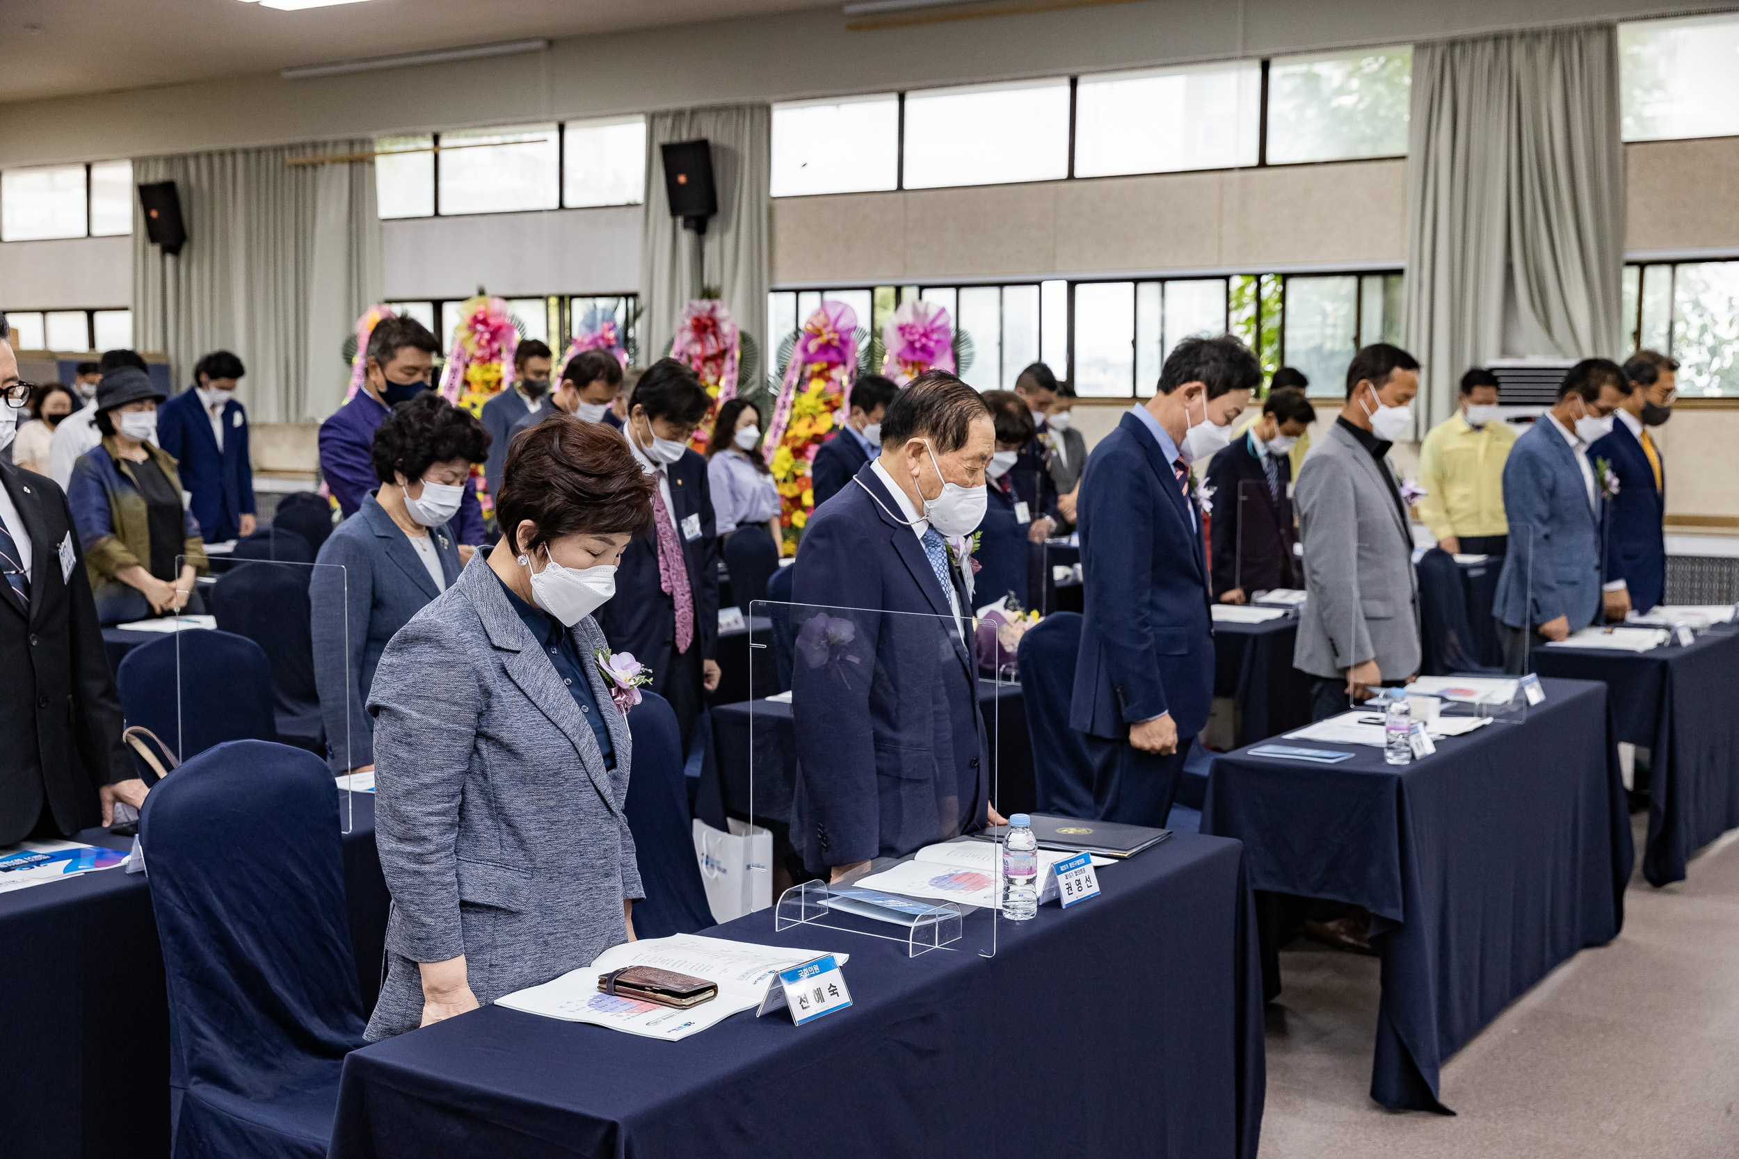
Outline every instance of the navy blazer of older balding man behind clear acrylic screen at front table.
<path id="1" fill-rule="evenodd" d="M 948 594 L 875 469 L 856 478 L 803 528 L 791 577 L 791 844 L 810 872 L 946 841 L 989 803 L 977 667 Z M 953 561 L 949 582 L 970 615 Z"/>

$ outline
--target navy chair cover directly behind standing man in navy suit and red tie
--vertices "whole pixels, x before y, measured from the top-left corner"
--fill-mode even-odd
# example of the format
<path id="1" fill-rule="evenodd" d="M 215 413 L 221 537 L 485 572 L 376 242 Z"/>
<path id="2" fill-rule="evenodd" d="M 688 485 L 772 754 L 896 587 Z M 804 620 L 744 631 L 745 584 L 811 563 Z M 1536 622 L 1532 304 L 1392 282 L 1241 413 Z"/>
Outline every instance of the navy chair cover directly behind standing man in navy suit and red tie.
<path id="1" fill-rule="evenodd" d="M 1021 636 L 1016 652 L 1026 732 L 1033 740 L 1036 811 L 1057 817 L 1096 815 L 1092 759 L 1082 735 L 1069 728 L 1080 648 L 1082 615 L 1052 612 Z"/>

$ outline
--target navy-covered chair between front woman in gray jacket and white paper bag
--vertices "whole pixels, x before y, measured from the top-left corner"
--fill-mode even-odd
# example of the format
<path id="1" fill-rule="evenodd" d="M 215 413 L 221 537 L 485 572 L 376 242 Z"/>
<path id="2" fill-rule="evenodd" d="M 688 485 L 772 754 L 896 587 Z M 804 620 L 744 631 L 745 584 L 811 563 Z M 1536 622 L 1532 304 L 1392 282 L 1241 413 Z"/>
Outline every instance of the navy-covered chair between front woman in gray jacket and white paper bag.
<path id="1" fill-rule="evenodd" d="M 682 732 L 664 697 L 642 692 L 628 711 L 635 740 L 628 778 L 628 831 L 645 898 L 635 902 L 635 937 L 663 938 L 713 924 L 701 865 L 689 824 L 689 778 L 683 775 Z"/>

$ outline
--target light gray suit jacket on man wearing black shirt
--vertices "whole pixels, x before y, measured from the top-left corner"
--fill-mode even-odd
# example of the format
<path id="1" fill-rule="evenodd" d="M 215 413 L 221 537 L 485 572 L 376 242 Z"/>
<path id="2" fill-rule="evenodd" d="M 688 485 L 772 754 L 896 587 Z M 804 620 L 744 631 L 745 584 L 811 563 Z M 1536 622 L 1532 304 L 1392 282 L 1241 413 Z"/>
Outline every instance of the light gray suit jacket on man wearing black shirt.
<path id="1" fill-rule="evenodd" d="M 1386 467 L 1339 424 L 1311 447 L 1292 504 L 1304 540 L 1304 587 L 1292 666 L 1334 678 L 1376 660 L 1383 679 L 1419 671 L 1419 579 L 1412 532 Z"/>

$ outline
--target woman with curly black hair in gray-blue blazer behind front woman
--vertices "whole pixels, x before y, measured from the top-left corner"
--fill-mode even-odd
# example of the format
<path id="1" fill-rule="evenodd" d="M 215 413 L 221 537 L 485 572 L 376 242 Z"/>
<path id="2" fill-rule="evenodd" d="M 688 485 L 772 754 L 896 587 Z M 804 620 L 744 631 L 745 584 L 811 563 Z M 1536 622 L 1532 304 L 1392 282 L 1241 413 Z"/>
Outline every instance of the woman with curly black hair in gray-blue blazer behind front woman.
<path id="1" fill-rule="evenodd" d="M 327 537 L 308 580 L 334 775 L 374 770 L 374 669 L 386 641 L 459 577 L 459 537 L 447 521 L 487 454 L 483 426 L 433 391 L 395 407 L 374 433 L 381 487 Z"/>

